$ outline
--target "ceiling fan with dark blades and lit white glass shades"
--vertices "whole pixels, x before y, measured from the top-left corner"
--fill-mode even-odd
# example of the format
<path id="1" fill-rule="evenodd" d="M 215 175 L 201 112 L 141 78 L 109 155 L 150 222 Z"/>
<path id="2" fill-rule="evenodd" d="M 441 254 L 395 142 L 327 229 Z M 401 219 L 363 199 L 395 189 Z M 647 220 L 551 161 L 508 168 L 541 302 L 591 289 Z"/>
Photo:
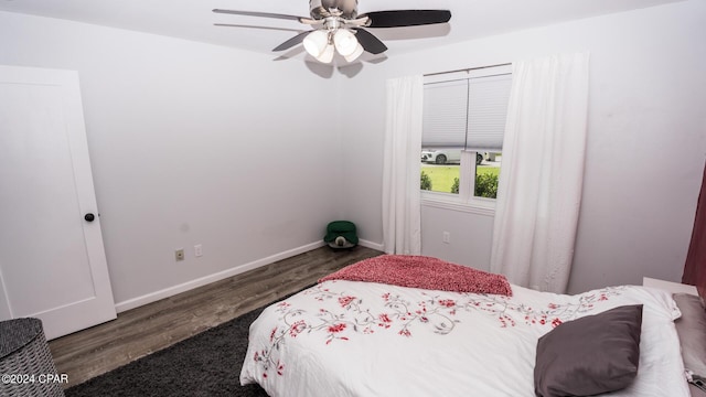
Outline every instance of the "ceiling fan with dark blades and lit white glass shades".
<path id="1" fill-rule="evenodd" d="M 303 43 L 304 50 L 323 63 L 331 63 L 336 52 L 347 62 L 353 62 L 364 51 L 371 54 L 387 51 L 387 46 L 364 28 L 418 26 L 446 23 L 451 19 L 451 11 L 448 10 L 391 10 L 359 14 L 357 0 L 309 0 L 309 8 L 311 18 L 222 9 L 215 9 L 213 12 L 285 19 L 309 25 L 311 30 L 300 32 L 272 51 L 285 51 Z M 215 25 L 263 28 L 226 23 Z"/>

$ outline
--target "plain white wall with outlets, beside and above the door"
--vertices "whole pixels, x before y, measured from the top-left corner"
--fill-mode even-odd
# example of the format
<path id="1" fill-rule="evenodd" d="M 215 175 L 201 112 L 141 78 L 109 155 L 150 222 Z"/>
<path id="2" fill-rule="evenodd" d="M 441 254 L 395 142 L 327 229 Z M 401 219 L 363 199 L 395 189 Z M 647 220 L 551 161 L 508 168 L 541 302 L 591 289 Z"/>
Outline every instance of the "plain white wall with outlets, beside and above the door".
<path id="1" fill-rule="evenodd" d="M 341 215 L 341 140 L 318 122 L 336 82 L 272 58 L 0 12 L 0 64 L 79 73 L 118 309 L 311 248 Z"/>

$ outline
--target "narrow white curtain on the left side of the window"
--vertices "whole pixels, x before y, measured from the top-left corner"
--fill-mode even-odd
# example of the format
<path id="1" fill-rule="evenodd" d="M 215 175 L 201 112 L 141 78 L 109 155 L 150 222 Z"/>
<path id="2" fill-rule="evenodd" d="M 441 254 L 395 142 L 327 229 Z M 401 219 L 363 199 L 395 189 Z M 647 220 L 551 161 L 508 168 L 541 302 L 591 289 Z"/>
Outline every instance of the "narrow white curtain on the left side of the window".
<path id="1" fill-rule="evenodd" d="M 387 254 L 421 253 L 422 76 L 388 79 L 383 171 L 383 238 Z"/>

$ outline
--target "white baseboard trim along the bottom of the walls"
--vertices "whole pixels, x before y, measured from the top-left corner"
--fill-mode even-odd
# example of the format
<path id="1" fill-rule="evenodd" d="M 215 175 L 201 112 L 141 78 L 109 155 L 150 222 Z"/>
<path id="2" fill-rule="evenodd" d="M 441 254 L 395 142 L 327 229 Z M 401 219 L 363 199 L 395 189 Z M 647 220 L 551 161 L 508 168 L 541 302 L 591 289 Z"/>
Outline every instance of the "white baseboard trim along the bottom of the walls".
<path id="1" fill-rule="evenodd" d="M 368 246 L 368 245 L 363 244 L 363 242 L 360 242 L 360 244 L 362 246 L 365 246 L 365 247 L 368 247 L 368 248 L 373 248 L 373 249 L 377 249 L 377 248 L 374 247 L 374 243 L 370 243 L 370 242 L 366 242 L 366 243 L 372 244 L 373 246 Z M 226 279 L 228 277 L 233 277 L 233 276 L 243 273 L 243 272 L 248 271 L 248 270 L 257 269 L 259 267 L 274 264 L 274 262 L 276 262 L 278 260 L 287 259 L 287 258 L 293 257 L 296 255 L 303 254 L 303 253 L 307 253 L 307 251 L 310 251 L 312 249 L 317 249 L 317 248 L 323 247 L 323 246 L 324 246 L 323 242 L 317 242 L 317 243 L 307 244 L 307 245 L 303 245 L 301 247 L 297 247 L 297 248 L 289 249 L 289 250 L 286 250 L 286 251 L 279 253 L 279 254 L 275 254 L 275 255 L 268 256 L 268 257 L 263 258 L 263 259 L 257 259 L 257 260 L 254 260 L 254 261 L 248 262 L 248 264 L 239 265 L 239 266 L 236 266 L 236 267 L 223 270 L 223 271 L 218 271 L 218 272 L 213 273 L 213 275 L 208 275 L 208 276 L 201 277 L 201 278 L 197 278 L 197 279 L 194 279 L 194 280 L 190 280 L 190 281 L 186 281 L 184 283 L 180 283 L 178 286 L 169 287 L 169 288 L 165 288 L 165 289 L 160 290 L 160 291 L 151 292 L 151 293 L 148 293 L 148 294 L 145 294 L 145 296 L 141 296 L 141 297 L 137 297 L 137 298 L 128 299 L 128 300 L 122 301 L 122 302 L 118 302 L 118 303 L 115 304 L 115 310 L 118 313 L 120 313 L 120 312 L 124 312 L 126 310 L 139 308 L 141 305 L 145 305 L 145 304 L 148 304 L 148 303 L 152 303 L 152 302 L 157 302 L 158 300 L 161 300 L 161 299 L 164 299 L 164 298 L 169 298 L 169 297 L 173 297 L 173 296 L 175 296 L 178 293 L 186 292 L 186 291 L 192 290 L 194 288 L 203 287 L 203 286 L 210 285 L 210 283 L 215 282 L 215 281 L 221 281 L 221 280 Z"/>

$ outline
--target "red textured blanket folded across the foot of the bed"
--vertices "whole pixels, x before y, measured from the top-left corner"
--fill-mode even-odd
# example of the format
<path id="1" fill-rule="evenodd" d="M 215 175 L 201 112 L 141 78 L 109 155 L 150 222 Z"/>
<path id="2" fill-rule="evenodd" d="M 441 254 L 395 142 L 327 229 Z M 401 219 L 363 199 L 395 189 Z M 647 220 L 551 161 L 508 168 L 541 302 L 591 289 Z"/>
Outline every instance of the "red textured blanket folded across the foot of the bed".
<path id="1" fill-rule="evenodd" d="M 368 281 L 430 290 L 495 293 L 512 297 L 507 279 L 438 258 L 410 255 L 382 255 L 361 260 L 331 273 L 328 280 Z"/>

